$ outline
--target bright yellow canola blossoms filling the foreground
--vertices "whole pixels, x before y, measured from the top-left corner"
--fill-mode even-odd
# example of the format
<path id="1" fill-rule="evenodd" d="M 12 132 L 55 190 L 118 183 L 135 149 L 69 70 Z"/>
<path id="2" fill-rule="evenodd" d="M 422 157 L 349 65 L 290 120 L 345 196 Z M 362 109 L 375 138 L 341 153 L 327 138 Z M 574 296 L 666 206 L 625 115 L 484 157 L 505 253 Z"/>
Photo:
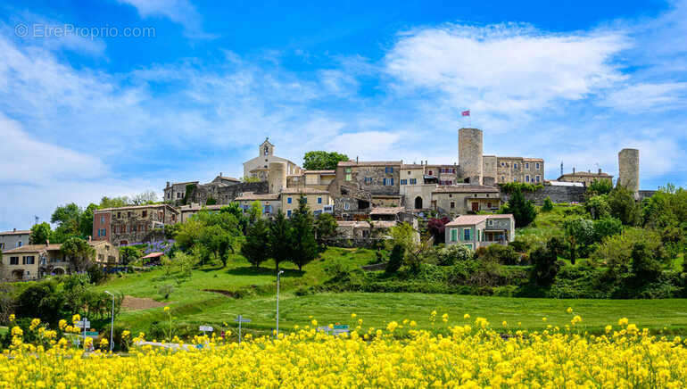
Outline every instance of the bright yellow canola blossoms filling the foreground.
<path id="1" fill-rule="evenodd" d="M 687 382 L 687 348 L 679 337 L 650 335 L 627 319 L 606 327 L 605 335 L 585 335 L 575 327 L 581 321 L 575 316 L 573 329 L 540 333 L 504 333 L 507 323 L 492 329 L 484 318 L 435 332 L 416 330 L 409 320 L 339 336 L 306 326 L 278 340 L 263 336 L 239 345 L 197 336 L 202 348 L 146 345 L 127 356 L 104 351 L 106 341 L 103 351 L 88 354 L 67 348 L 63 338 L 45 350 L 22 343 L 21 330 L 12 330 L 12 347 L 0 358 L 0 388 L 678 388 Z"/>

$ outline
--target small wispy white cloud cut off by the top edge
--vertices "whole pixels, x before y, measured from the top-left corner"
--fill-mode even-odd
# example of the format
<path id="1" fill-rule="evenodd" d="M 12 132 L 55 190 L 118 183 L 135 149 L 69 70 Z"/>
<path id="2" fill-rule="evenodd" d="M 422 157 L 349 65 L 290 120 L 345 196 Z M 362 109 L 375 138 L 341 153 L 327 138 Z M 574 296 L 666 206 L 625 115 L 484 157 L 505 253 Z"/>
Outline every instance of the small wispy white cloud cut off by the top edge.
<path id="1" fill-rule="evenodd" d="M 141 18 L 161 16 L 181 24 L 188 37 L 214 37 L 203 32 L 201 15 L 188 0 L 119 0 L 119 2 L 134 6 Z"/>

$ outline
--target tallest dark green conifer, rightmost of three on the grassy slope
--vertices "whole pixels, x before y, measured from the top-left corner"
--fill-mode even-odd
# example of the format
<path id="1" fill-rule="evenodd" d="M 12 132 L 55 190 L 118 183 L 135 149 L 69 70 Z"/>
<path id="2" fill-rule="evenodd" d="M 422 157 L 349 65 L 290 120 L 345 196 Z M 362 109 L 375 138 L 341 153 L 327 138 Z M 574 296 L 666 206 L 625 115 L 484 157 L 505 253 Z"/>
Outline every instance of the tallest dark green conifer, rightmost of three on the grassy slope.
<path id="1" fill-rule="evenodd" d="M 291 261 L 302 270 L 304 265 L 318 257 L 319 248 L 315 240 L 314 218 L 305 197 L 298 200 L 298 208 L 291 215 Z"/>

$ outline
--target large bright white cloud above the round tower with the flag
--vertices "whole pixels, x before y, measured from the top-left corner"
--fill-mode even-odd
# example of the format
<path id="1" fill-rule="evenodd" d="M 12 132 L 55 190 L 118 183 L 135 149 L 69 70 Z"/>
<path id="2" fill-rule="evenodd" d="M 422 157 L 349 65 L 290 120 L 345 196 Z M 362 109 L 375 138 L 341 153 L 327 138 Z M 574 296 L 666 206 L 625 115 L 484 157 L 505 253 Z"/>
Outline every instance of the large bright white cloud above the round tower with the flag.
<path id="1" fill-rule="evenodd" d="M 627 45 L 611 30 L 553 34 L 522 24 L 448 24 L 401 35 L 385 63 L 401 91 L 423 88 L 454 109 L 517 116 L 624 79 L 613 59 Z"/>

